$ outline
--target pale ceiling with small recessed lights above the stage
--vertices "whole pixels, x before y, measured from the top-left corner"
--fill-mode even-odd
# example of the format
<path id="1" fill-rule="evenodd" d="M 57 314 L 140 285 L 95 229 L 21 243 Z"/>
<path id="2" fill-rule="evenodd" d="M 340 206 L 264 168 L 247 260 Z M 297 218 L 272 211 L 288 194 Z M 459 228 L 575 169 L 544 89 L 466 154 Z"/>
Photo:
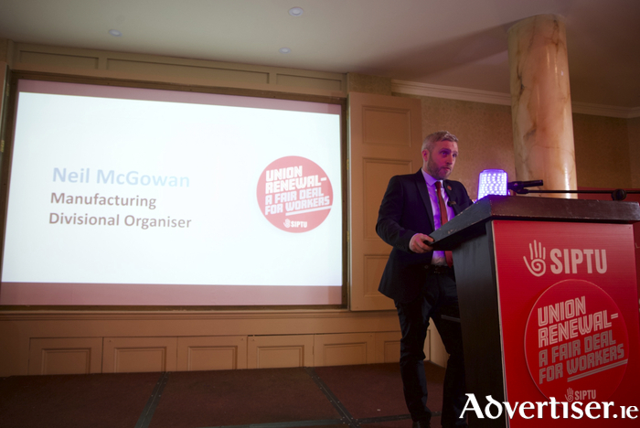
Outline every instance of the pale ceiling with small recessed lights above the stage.
<path id="1" fill-rule="evenodd" d="M 539 14 L 566 18 L 573 102 L 640 107 L 638 0 L 0 0 L 0 37 L 508 93 L 507 29 Z"/>

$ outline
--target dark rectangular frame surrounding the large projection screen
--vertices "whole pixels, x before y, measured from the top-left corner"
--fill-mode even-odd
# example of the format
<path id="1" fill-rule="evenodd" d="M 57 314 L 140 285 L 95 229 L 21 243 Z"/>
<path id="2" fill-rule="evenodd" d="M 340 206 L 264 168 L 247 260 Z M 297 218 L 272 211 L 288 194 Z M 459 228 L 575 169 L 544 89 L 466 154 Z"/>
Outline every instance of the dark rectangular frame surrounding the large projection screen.
<path id="1" fill-rule="evenodd" d="M 346 309 L 348 307 L 348 168 L 347 168 L 347 99 L 322 95 L 308 95 L 280 91 L 258 91 L 250 89 L 225 88 L 217 86 L 188 86 L 184 84 L 155 83 L 141 80 L 98 79 L 69 75 L 49 74 L 30 71 L 13 71 L 8 77 L 8 100 L 5 102 L 3 118 L 3 141 L 5 142 L 0 164 L 0 227 L 2 227 L 0 247 L 0 272 L 5 251 L 6 217 L 8 209 L 8 194 L 13 161 L 13 148 L 16 130 L 17 112 L 17 84 L 18 80 L 41 80 L 75 84 L 117 86 L 134 89 L 151 89 L 163 91 L 200 92 L 221 95 L 235 95 L 252 98 L 268 98 L 300 102 L 319 102 L 340 106 L 340 174 L 342 194 L 342 303 L 340 305 L 0 305 L 0 310 L 72 310 L 72 311 L 264 311 L 264 310 L 300 310 L 300 309 Z M 0 284 L 0 287 L 2 285 Z"/>

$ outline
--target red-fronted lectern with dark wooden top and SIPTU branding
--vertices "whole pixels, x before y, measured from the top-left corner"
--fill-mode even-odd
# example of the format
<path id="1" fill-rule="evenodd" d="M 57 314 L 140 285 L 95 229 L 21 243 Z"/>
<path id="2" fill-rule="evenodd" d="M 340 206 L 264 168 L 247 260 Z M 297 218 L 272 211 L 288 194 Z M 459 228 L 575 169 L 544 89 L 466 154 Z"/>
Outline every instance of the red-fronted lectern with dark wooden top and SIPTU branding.
<path id="1" fill-rule="evenodd" d="M 471 427 L 640 424 L 636 221 L 636 203 L 490 196 L 432 233 L 453 250 Z"/>

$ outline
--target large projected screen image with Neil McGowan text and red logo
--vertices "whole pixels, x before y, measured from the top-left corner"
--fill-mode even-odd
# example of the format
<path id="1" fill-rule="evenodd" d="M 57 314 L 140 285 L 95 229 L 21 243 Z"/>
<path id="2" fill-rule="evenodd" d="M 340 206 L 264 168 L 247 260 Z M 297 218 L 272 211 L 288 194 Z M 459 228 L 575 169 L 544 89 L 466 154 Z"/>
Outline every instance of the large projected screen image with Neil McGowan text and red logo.
<path id="1" fill-rule="evenodd" d="M 341 303 L 340 107 L 21 80 L 2 305 Z"/>

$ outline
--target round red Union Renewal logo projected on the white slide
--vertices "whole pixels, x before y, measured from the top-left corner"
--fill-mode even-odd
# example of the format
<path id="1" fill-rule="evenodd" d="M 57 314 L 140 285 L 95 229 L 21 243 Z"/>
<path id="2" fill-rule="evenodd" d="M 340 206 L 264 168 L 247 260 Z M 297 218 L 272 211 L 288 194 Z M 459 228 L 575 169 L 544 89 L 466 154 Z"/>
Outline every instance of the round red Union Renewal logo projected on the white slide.
<path id="1" fill-rule="evenodd" d="M 305 157 L 281 157 L 264 168 L 258 180 L 262 214 L 285 231 L 314 230 L 325 221 L 333 202 L 329 177 Z"/>

